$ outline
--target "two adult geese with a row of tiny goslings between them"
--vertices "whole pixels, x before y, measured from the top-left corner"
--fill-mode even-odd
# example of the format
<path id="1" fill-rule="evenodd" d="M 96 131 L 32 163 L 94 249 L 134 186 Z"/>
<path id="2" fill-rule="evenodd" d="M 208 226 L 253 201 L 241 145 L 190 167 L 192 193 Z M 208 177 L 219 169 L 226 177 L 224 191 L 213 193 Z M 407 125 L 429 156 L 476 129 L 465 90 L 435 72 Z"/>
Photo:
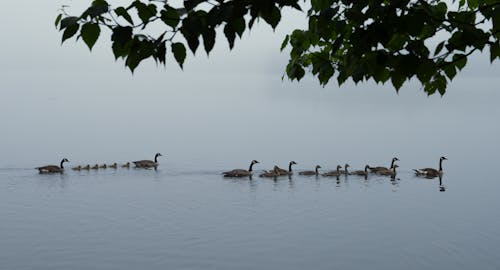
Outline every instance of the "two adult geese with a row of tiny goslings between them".
<path id="1" fill-rule="evenodd" d="M 160 153 L 156 153 L 154 160 L 138 160 L 138 161 L 132 161 L 134 163 L 136 168 L 156 168 L 158 167 L 158 157 L 161 157 L 162 155 Z M 41 166 L 37 167 L 35 169 L 38 170 L 39 173 L 63 173 L 64 172 L 64 162 L 69 162 L 68 159 L 63 158 L 61 160 L 61 163 L 59 166 L 57 165 L 46 165 L 46 166 Z M 122 168 L 130 168 L 130 162 L 127 162 L 125 164 L 120 165 Z M 87 164 L 86 166 L 78 165 L 76 167 L 71 168 L 72 170 L 75 171 L 81 171 L 81 170 L 98 170 L 98 169 L 106 169 L 106 168 L 111 168 L 111 169 L 116 169 L 118 168 L 118 164 L 115 162 L 110 165 L 99 165 L 96 164 L 94 166 L 90 166 L 90 164 Z"/>

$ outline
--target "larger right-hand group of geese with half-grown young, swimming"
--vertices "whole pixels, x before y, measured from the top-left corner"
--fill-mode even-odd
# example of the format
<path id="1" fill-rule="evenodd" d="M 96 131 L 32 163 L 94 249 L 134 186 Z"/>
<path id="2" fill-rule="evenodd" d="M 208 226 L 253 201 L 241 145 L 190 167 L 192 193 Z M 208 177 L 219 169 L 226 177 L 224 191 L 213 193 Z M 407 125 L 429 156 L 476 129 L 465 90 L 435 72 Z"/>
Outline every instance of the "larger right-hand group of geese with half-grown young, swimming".
<path id="1" fill-rule="evenodd" d="M 441 157 L 439 159 L 439 169 L 422 168 L 422 169 L 413 169 L 413 171 L 415 172 L 416 176 L 425 177 L 428 179 L 436 178 L 438 176 L 441 177 L 443 175 L 443 160 L 446 160 L 446 157 Z M 359 176 L 364 176 L 366 178 L 370 173 L 372 173 L 381 176 L 389 176 L 391 178 L 395 178 L 397 174 L 396 168 L 399 167 L 396 164 L 396 161 L 399 161 L 399 159 L 397 157 L 394 157 L 391 161 L 390 167 L 383 167 L 383 166 L 371 167 L 370 165 L 366 165 L 364 170 L 355 170 L 355 171 L 349 171 L 350 167 L 349 164 L 345 164 L 343 169 L 341 165 L 337 165 L 336 170 L 325 173 L 320 173 L 319 169 L 321 169 L 321 166 L 316 165 L 314 171 L 301 171 L 299 172 L 299 175 L 305 175 L 305 176 L 321 175 L 325 177 L 339 177 L 341 175 L 359 175 Z M 223 172 L 222 174 L 224 175 L 224 177 L 249 177 L 253 175 L 253 166 L 257 163 L 259 163 L 257 160 L 252 160 L 250 162 L 250 167 L 248 168 L 248 170 L 234 169 L 231 171 Z M 259 176 L 276 178 L 284 175 L 292 175 L 293 174 L 292 166 L 295 164 L 297 164 L 295 161 L 290 161 L 290 163 L 288 164 L 288 170 L 280 168 L 278 166 L 274 166 L 272 170 L 266 170 Z"/>

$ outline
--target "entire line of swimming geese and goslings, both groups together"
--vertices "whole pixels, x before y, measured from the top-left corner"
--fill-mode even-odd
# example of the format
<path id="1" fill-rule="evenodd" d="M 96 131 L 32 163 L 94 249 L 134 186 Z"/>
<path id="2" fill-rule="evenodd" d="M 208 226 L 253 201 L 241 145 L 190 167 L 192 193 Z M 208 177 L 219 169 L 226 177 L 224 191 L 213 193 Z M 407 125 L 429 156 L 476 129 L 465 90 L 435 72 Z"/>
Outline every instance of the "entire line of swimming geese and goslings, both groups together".
<path id="1" fill-rule="evenodd" d="M 160 153 L 156 153 L 154 160 L 138 160 L 138 161 L 133 161 L 136 168 L 156 168 L 158 167 L 158 157 L 162 156 Z M 428 179 L 436 178 L 436 177 L 441 177 L 443 175 L 443 160 L 446 160 L 446 157 L 441 157 L 439 159 L 439 168 L 434 169 L 434 168 L 422 168 L 422 169 L 413 169 L 415 172 L 416 176 L 420 177 L 425 177 Z M 376 166 L 376 167 L 371 167 L 370 165 L 366 165 L 364 170 L 354 170 L 354 171 L 349 171 L 349 164 L 345 164 L 344 168 L 342 168 L 341 165 L 337 165 L 337 169 L 334 171 L 330 172 L 325 172 L 325 173 L 320 173 L 319 169 L 321 169 L 320 165 L 316 165 L 313 171 L 301 171 L 299 172 L 299 175 L 305 175 L 305 176 L 325 176 L 325 177 L 339 177 L 341 175 L 358 175 L 358 176 L 364 176 L 365 178 L 368 177 L 368 175 L 371 174 L 377 174 L 381 176 L 389 176 L 391 178 L 395 178 L 397 171 L 396 169 L 399 167 L 396 164 L 396 161 L 399 161 L 397 157 L 394 157 L 391 161 L 390 167 L 383 167 L 383 166 Z M 61 160 L 61 163 L 59 166 L 57 165 L 47 165 L 47 166 L 42 166 L 42 167 L 37 167 L 38 171 L 40 173 L 62 173 L 64 172 L 64 163 L 69 162 L 68 159 L 64 158 Z M 252 160 L 250 162 L 250 167 L 248 170 L 245 169 L 234 169 L 231 171 L 226 171 L 223 172 L 222 175 L 224 177 L 249 177 L 253 175 L 253 166 L 255 164 L 259 163 L 257 160 Z M 278 166 L 274 166 L 272 170 L 266 170 L 263 173 L 261 173 L 259 176 L 260 177 L 268 177 L 268 178 L 276 178 L 279 176 L 285 176 L 285 175 L 292 175 L 293 170 L 292 166 L 297 164 L 295 161 L 290 161 L 288 164 L 288 170 L 280 168 Z M 73 167 L 73 170 L 97 170 L 97 169 L 106 169 L 106 168 L 113 168 L 116 169 L 118 167 L 117 163 L 113 163 L 111 165 L 94 165 L 90 166 L 89 164 L 86 166 L 78 165 L 76 167 Z M 120 167 L 123 168 L 130 168 L 130 162 L 127 162 Z"/>

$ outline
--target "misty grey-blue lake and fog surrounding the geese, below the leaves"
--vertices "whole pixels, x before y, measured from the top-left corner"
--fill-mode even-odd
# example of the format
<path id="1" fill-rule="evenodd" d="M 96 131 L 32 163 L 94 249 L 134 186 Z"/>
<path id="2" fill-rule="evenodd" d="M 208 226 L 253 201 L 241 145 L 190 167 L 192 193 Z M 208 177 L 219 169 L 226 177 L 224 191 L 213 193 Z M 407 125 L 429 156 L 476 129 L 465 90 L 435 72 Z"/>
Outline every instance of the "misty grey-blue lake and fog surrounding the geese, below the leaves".
<path id="1" fill-rule="evenodd" d="M 79 13 L 86 1 L 70 4 Z M 499 66 L 475 55 L 444 97 L 416 82 L 281 80 L 287 12 L 184 71 L 132 75 L 103 34 L 60 45 L 67 2 L 0 9 L 0 269 L 498 269 Z M 22 15 L 21 15 L 22 14 Z M 168 55 L 171 57 L 172 55 Z M 34 167 L 160 158 L 158 171 Z M 445 155 L 446 192 L 413 177 Z M 399 180 L 224 179 L 246 168 L 389 165 Z"/>

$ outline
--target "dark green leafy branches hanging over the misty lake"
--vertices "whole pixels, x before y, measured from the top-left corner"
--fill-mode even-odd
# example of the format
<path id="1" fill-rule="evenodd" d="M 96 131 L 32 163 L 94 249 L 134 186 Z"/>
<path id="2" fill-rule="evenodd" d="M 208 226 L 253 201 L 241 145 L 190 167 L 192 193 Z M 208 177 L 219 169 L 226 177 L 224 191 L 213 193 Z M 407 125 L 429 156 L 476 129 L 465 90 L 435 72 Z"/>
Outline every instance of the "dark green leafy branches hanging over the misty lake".
<path id="1" fill-rule="evenodd" d="M 133 72 L 145 59 L 165 64 L 167 47 L 183 68 L 186 47 L 214 48 L 216 29 L 232 49 L 236 38 L 262 19 L 273 29 L 284 8 L 302 10 L 299 0 L 135 0 L 111 7 L 94 0 L 80 15 L 63 7 L 56 27 L 62 42 L 82 38 L 92 50 L 101 28 L 109 29 L 116 59 Z M 326 85 L 390 80 L 396 90 L 416 77 L 427 94 L 446 86 L 476 51 L 500 58 L 500 0 L 311 0 L 307 29 L 287 35 L 286 75 L 300 80 L 306 71 Z M 158 29 L 160 31 L 158 32 Z M 156 31 L 156 32 L 155 32 Z M 179 35 L 178 35 L 179 34 Z"/>

